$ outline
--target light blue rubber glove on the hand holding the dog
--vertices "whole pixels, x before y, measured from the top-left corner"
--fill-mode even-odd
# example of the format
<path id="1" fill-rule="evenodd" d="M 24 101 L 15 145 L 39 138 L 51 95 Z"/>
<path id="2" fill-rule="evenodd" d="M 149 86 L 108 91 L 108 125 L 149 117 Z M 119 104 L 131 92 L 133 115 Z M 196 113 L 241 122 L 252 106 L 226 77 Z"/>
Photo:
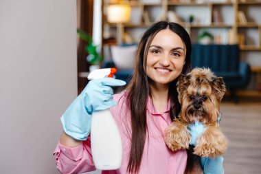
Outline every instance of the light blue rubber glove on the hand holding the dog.
<path id="1" fill-rule="evenodd" d="M 205 125 L 202 122 L 196 121 L 189 124 L 188 132 L 190 133 L 190 144 L 195 146 L 196 139 L 205 131 Z M 201 157 L 201 165 L 203 166 L 204 174 L 223 174 L 223 157 L 216 158 Z"/>

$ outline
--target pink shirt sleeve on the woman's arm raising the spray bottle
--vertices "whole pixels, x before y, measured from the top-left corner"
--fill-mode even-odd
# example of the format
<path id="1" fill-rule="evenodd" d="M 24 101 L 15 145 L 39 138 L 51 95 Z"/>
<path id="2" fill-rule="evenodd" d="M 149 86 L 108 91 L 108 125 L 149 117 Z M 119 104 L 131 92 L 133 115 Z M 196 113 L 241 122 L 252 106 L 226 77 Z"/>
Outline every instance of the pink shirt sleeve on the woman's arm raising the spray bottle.
<path id="1" fill-rule="evenodd" d="M 91 156 L 91 143 L 89 138 L 76 147 L 67 147 L 57 144 L 54 150 L 56 155 L 56 168 L 60 173 L 84 173 L 95 171 Z"/>

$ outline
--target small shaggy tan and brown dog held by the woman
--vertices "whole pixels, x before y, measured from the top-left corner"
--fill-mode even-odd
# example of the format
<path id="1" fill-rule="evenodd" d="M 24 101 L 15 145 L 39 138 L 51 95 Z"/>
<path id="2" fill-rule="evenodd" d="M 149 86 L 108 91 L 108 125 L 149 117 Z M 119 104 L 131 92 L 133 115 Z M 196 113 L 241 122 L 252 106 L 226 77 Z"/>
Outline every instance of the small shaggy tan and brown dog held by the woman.
<path id="1" fill-rule="evenodd" d="M 195 68 L 187 75 L 180 76 L 177 91 L 181 113 L 166 129 L 165 141 L 168 147 L 172 151 L 189 149 L 191 140 L 187 127 L 198 120 L 205 124 L 206 129 L 196 140 L 194 154 L 199 156 L 198 159 L 223 155 L 227 149 L 227 138 L 218 126 L 220 102 L 226 91 L 222 78 L 215 76 L 210 69 Z M 188 157 L 189 153 L 192 151 L 188 151 Z"/>

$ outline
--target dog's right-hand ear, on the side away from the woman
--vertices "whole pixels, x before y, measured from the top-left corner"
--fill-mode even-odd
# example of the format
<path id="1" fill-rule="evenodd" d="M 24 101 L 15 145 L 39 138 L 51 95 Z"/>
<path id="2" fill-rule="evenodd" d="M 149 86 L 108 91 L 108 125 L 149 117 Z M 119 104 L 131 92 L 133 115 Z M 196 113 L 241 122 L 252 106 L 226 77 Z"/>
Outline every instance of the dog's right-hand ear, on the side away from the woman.
<path id="1" fill-rule="evenodd" d="M 226 86 L 222 77 L 216 77 L 212 80 L 212 92 L 221 100 L 225 94 Z"/>

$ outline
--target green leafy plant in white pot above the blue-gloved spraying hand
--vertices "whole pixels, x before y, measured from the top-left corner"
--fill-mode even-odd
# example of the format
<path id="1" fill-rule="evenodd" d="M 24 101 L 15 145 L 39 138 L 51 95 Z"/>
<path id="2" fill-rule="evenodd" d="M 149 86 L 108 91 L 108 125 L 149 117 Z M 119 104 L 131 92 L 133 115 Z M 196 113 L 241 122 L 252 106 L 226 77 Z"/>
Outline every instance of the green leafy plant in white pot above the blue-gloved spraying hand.
<path id="1" fill-rule="evenodd" d="M 82 30 L 77 29 L 77 34 L 80 39 L 87 41 L 87 45 L 84 47 L 84 50 L 86 50 L 89 54 L 86 59 L 87 62 L 91 64 L 91 66 L 89 67 L 90 72 L 94 69 L 99 69 L 100 63 L 102 63 L 104 58 L 97 51 L 98 45 L 94 45 L 91 36 L 83 32 Z"/>

